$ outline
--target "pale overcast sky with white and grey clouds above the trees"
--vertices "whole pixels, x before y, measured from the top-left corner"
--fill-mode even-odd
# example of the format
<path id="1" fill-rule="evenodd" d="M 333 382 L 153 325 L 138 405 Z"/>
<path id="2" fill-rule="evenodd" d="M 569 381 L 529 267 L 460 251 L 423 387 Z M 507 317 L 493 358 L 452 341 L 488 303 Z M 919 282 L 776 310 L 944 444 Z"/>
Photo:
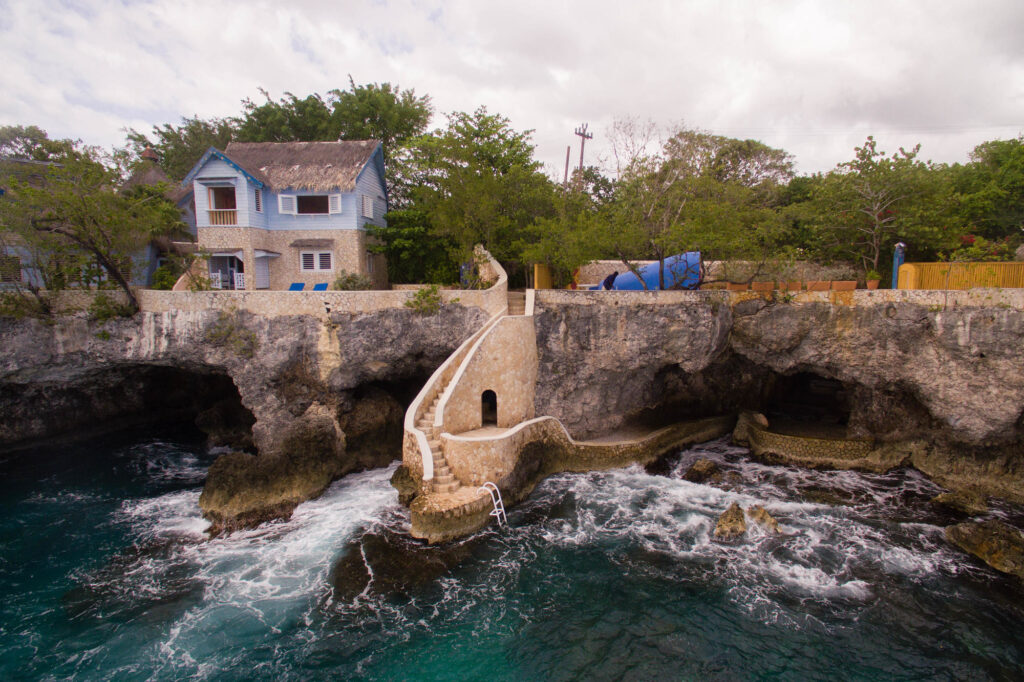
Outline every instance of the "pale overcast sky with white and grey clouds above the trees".
<path id="1" fill-rule="evenodd" d="M 0 124 L 122 144 L 259 88 L 391 82 L 534 129 L 561 177 L 616 118 L 754 137 L 809 173 L 881 147 L 967 161 L 1024 131 L 1024 2 L 0 0 Z"/>

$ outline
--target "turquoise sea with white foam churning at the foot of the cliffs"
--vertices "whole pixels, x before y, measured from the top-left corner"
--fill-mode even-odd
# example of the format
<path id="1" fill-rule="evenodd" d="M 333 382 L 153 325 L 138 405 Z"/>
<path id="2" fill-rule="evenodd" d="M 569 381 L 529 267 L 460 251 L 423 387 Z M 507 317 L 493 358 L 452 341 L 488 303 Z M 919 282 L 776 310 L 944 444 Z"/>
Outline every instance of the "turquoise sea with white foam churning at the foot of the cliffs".
<path id="1" fill-rule="evenodd" d="M 682 480 L 697 457 L 731 488 Z M 0 463 L 0 679 L 1024 677 L 1024 589 L 945 544 L 956 519 L 912 471 L 768 467 L 716 441 L 668 475 L 559 475 L 451 569 L 342 598 L 335 563 L 408 525 L 393 467 L 208 541 L 213 459 L 129 434 Z M 712 542 L 732 502 L 784 535 Z"/>

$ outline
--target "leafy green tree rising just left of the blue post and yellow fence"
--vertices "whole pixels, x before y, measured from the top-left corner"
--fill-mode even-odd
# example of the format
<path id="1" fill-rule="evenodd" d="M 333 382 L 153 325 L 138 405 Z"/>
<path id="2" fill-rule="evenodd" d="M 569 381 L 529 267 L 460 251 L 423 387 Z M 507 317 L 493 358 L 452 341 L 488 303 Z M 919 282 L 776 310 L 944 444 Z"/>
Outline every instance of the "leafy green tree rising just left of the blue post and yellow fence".
<path id="1" fill-rule="evenodd" d="M 950 190 L 942 169 L 918 160 L 921 145 L 888 156 L 871 136 L 855 147 L 815 188 L 819 227 L 830 236 L 824 247 L 859 261 L 865 270 L 882 271 L 882 255 L 897 241 L 919 254 L 945 248 Z"/>

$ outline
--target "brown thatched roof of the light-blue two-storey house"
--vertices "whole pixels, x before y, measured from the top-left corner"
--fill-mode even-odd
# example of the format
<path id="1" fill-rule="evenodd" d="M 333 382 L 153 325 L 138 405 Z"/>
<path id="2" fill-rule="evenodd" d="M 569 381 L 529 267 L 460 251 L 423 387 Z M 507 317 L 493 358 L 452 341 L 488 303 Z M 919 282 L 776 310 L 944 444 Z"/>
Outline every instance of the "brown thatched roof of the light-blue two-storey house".
<path id="1" fill-rule="evenodd" d="M 375 139 L 341 142 L 230 142 L 224 155 L 271 190 L 351 191 L 377 148 Z"/>

